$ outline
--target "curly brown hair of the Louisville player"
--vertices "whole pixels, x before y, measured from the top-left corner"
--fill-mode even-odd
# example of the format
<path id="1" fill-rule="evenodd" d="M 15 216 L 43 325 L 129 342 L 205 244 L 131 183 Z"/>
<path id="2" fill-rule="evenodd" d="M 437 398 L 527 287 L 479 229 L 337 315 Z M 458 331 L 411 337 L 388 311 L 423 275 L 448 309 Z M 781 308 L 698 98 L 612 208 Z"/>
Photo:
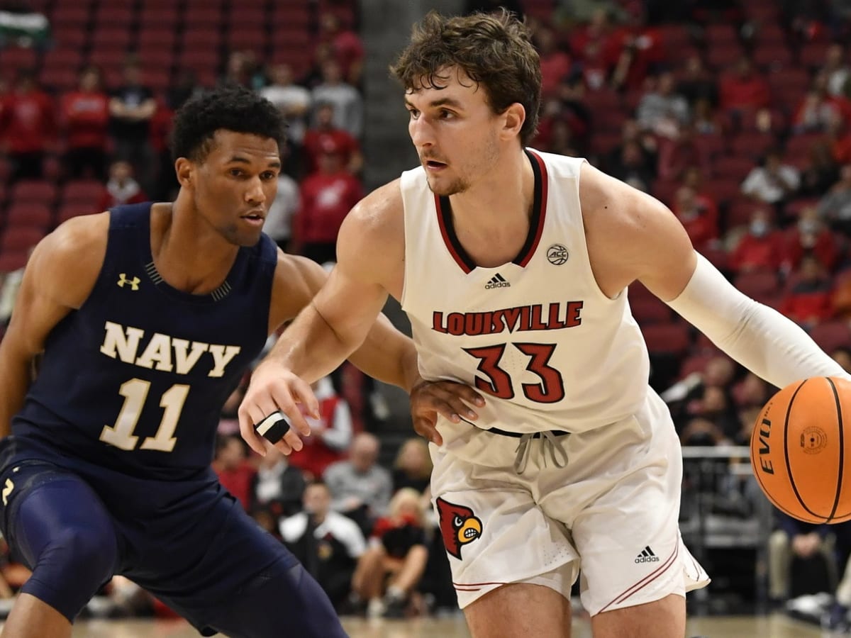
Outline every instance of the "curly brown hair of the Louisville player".
<path id="1" fill-rule="evenodd" d="M 532 140 L 540 109 L 540 59 L 523 22 L 505 9 L 463 17 L 431 11 L 414 25 L 408 47 L 390 71 L 410 91 L 445 88 L 450 66 L 485 88 L 494 113 L 522 104 L 526 121 L 520 141 L 527 145 Z"/>

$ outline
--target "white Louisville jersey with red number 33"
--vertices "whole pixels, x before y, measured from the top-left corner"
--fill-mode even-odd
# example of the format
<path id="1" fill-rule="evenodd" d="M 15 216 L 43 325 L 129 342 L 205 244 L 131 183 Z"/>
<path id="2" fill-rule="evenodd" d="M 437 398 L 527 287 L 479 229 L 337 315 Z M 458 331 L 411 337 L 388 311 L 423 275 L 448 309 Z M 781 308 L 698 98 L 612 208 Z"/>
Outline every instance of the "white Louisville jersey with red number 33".
<path id="1" fill-rule="evenodd" d="M 471 262 L 448 197 L 423 168 L 402 174 L 403 310 L 424 379 L 474 385 L 477 425 L 513 432 L 591 430 L 635 413 L 648 392 L 647 347 L 626 291 L 609 299 L 591 273 L 579 198 L 584 160 L 527 151 L 534 208 L 517 257 Z"/>

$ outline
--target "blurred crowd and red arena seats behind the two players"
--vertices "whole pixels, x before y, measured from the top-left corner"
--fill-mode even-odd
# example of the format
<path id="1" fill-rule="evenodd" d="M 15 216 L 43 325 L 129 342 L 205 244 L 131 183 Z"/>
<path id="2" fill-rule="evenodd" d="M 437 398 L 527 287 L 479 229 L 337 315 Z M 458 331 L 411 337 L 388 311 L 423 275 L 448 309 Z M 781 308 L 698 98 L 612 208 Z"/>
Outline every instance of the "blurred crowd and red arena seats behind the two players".
<path id="1" fill-rule="evenodd" d="M 21 9 L 10 4 L 0 3 L 0 11 Z M 110 3 L 29 4 L 24 9 L 50 17 L 85 4 L 89 17 L 81 24 L 98 26 Z M 381 161 L 361 151 L 369 94 L 356 3 L 306 3 L 306 34 L 287 36 L 307 36 L 298 58 L 277 54 L 271 41 L 282 36 L 270 29 L 267 58 L 257 48 L 226 46 L 237 43 L 227 39 L 226 23 L 198 31 L 190 16 L 203 15 L 201 3 L 191 0 L 170 3 L 174 15 L 182 12 L 175 18 L 182 28 L 173 30 L 181 46 L 168 29 L 146 26 L 145 0 L 126 4 L 140 22 L 129 27 L 137 47 L 120 54 L 100 54 L 111 50 L 100 48 L 106 38 L 89 42 L 85 34 L 76 48 L 62 48 L 71 32 L 56 20 L 53 49 L 41 39 L 38 48 L 20 40 L 0 48 L 3 322 L 28 251 L 54 225 L 119 203 L 174 197 L 171 118 L 214 83 L 254 88 L 288 116 L 289 144 L 265 227 L 285 250 L 333 262 L 340 224 L 363 197 L 364 162 Z M 222 16 L 241 6 L 209 4 L 223 8 Z M 273 3 L 249 4 L 277 16 Z M 483 0 L 465 10 L 500 6 L 525 14 L 540 52 L 543 102 L 533 146 L 588 157 L 658 197 L 738 288 L 790 316 L 851 371 L 849 3 Z M 203 32 L 220 38 L 214 66 L 192 57 L 207 46 L 197 35 Z M 167 35 L 179 63 L 163 74 L 142 45 Z M 69 77 L 55 52 L 77 48 L 88 54 Z M 746 445 L 776 389 L 723 356 L 640 284 L 631 286 L 630 302 L 648 340 L 651 384 L 671 406 L 683 444 Z M 387 418 L 386 406 L 372 385 L 365 395 L 352 393 L 347 379 L 351 372 L 343 369 L 317 383 L 322 419 L 312 423 L 304 450 L 289 458 L 271 449 L 263 459 L 248 455 L 234 422 L 237 390 L 222 415 L 214 468 L 340 612 L 398 617 L 454 608 L 429 504 L 426 444 L 405 441 L 389 454 L 392 467 L 383 467 L 382 440 L 368 430 L 376 417 Z M 802 526 L 778 513 L 769 550 L 770 600 L 828 590 L 838 603 L 831 623 L 845 618 L 845 527 Z M 820 556 L 827 558 L 819 563 Z M 819 564 L 822 572 L 812 572 Z M 793 578 L 801 565 L 811 572 Z M 10 588 L 0 597 L 26 578 L 14 563 L 2 571 Z M 89 612 L 167 612 L 121 578 L 103 594 Z"/>

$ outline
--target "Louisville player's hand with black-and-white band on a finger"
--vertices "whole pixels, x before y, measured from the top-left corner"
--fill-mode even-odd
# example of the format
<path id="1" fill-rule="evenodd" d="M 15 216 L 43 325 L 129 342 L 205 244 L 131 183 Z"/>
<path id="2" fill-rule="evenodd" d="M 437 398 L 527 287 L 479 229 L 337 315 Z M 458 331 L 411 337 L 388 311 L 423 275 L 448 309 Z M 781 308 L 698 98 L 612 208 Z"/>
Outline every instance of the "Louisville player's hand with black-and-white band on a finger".
<path id="1" fill-rule="evenodd" d="M 291 427 L 275 447 L 284 454 L 300 450 L 304 444 L 299 435 L 311 436 L 311 426 L 307 424 L 298 403 L 305 406 L 312 417 L 319 418 L 319 402 L 310 384 L 274 361 L 260 363 L 251 375 L 248 390 L 239 406 L 239 432 L 248 446 L 260 456 L 266 456 L 264 439 L 254 426 L 280 410 Z"/>

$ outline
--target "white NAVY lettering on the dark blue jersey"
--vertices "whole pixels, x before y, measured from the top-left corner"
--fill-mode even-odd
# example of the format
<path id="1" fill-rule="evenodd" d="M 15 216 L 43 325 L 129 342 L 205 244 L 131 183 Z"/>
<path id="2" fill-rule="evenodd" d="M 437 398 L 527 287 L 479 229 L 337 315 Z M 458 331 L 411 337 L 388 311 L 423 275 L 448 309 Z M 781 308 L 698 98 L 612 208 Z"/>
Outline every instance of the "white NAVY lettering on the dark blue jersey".
<path id="1" fill-rule="evenodd" d="M 205 344 L 200 341 L 176 339 L 163 333 L 153 333 L 145 350 L 139 354 L 145 331 L 115 322 L 104 324 L 104 341 L 100 352 L 134 366 L 156 369 L 160 372 L 191 373 L 201 356 L 207 352 L 213 357 L 208 377 L 221 377 L 227 365 L 242 350 L 238 345 Z"/>

